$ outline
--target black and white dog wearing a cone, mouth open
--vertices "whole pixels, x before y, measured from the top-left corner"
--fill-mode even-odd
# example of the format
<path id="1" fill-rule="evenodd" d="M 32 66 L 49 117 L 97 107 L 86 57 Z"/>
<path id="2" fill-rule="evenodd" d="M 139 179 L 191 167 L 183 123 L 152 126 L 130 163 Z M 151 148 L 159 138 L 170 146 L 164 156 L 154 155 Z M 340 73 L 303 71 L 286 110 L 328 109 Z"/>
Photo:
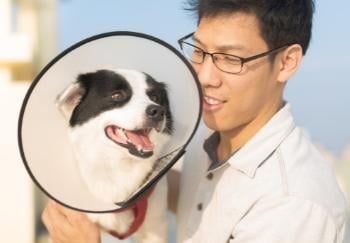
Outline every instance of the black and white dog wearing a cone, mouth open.
<path id="1" fill-rule="evenodd" d="M 142 185 L 173 131 L 166 85 L 137 70 L 79 74 L 58 95 L 56 105 L 68 124 L 83 181 L 95 197 L 107 203 L 124 201 Z M 166 211 L 167 184 L 161 179 L 137 229 L 138 216 L 131 209 L 88 213 L 88 217 L 120 239 L 134 228 L 138 242 L 165 243 Z"/>

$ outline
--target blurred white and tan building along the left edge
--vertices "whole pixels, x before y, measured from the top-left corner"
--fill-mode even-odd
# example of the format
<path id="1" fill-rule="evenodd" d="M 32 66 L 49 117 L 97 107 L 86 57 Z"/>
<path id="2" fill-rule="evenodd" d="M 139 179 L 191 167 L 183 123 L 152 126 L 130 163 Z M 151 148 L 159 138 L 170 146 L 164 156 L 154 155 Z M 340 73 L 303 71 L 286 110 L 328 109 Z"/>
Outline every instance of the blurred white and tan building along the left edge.
<path id="1" fill-rule="evenodd" d="M 34 75 L 56 54 L 55 0 L 0 0 L 0 235 L 33 243 L 34 185 L 17 145 L 17 122 Z"/>

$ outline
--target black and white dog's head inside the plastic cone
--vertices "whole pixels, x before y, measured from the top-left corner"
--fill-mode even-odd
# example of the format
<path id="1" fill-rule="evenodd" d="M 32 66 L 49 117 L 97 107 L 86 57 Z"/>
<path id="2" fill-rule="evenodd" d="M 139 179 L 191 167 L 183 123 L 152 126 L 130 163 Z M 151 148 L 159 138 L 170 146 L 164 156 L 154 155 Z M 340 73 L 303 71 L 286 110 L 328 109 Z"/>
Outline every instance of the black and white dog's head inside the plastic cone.
<path id="1" fill-rule="evenodd" d="M 166 86 L 143 72 L 116 69 L 80 74 L 56 103 L 76 140 L 95 140 L 89 141 L 95 144 L 91 148 L 103 143 L 138 159 L 150 158 L 157 143 L 163 143 L 158 137 L 172 132 Z"/>

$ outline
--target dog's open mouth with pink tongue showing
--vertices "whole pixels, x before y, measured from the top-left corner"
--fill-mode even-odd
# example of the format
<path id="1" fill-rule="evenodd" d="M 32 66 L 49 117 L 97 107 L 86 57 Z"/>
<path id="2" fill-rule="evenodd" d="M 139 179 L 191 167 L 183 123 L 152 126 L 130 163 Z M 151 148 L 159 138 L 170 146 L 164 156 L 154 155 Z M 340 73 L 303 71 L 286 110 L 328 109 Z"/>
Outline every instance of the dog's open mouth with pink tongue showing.
<path id="1" fill-rule="evenodd" d="M 106 136 L 113 142 L 129 150 L 132 155 L 148 158 L 153 155 L 154 144 L 149 138 L 152 128 L 126 130 L 115 125 L 105 128 Z"/>

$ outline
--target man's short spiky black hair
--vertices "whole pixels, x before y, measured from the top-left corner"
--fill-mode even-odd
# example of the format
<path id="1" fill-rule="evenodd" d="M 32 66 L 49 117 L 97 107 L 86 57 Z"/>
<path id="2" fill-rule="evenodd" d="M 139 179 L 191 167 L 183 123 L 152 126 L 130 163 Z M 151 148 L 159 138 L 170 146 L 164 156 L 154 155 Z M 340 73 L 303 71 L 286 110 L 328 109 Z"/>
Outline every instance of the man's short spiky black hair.
<path id="1" fill-rule="evenodd" d="M 313 0 L 188 0 L 185 6 L 203 17 L 243 12 L 254 14 L 270 49 L 300 44 L 305 55 L 312 33 Z"/>

